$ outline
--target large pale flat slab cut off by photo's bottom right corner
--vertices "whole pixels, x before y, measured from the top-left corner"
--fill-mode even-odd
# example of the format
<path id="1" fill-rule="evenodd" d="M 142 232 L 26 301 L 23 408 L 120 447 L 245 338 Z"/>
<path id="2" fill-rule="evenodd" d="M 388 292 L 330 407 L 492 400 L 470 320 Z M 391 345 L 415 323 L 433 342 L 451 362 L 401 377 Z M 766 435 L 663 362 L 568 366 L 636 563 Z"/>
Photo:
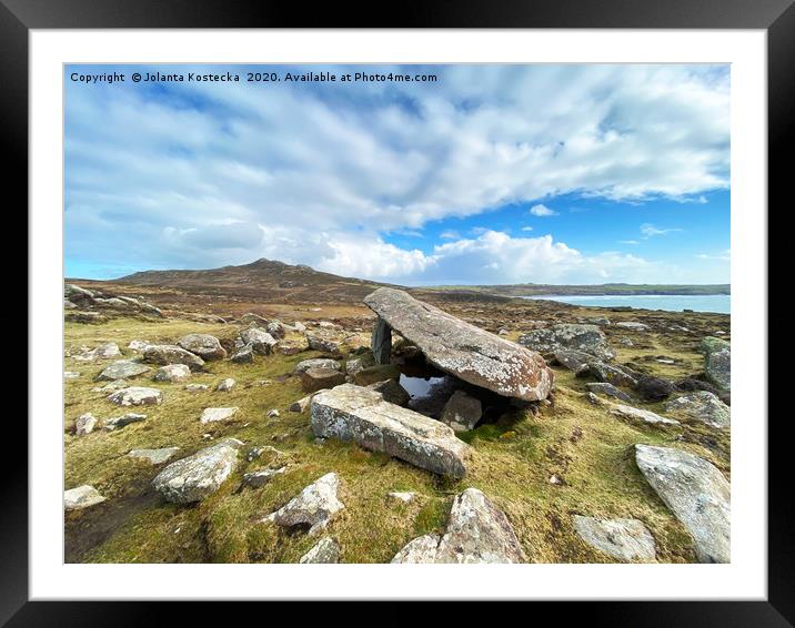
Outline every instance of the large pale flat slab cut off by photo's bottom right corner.
<path id="1" fill-rule="evenodd" d="M 731 488 L 707 460 L 681 449 L 635 445 L 635 462 L 660 498 L 693 535 L 702 563 L 729 563 Z"/>

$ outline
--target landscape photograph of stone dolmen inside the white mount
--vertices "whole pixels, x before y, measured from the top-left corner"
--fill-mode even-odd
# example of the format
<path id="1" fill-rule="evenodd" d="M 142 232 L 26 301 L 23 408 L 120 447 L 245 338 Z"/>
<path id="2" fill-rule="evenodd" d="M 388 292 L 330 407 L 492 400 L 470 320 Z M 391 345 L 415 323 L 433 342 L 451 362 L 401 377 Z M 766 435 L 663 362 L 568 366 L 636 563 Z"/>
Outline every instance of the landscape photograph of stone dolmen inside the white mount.
<path id="1" fill-rule="evenodd" d="M 62 68 L 66 564 L 732 563 L 731 63 Z"/>

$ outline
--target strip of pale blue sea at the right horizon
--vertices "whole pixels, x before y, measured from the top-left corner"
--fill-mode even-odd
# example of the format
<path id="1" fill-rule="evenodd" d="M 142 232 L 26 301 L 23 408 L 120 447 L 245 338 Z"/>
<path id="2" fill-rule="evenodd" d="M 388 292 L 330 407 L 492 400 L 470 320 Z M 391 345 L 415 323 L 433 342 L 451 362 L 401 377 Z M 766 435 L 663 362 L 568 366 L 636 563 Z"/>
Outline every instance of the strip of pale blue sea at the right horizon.
<path id="1" fill-rule="evenodd" d="M 539 295 L 523 298 L 544 298 L 560 301 L 572 305 L 591 307 L 630 306 L 636 310 L 665 310 L 667 312 L 714 312 L 732 313 L 732 295 L 729 294 L 620 294 L 620 295 Z"/>

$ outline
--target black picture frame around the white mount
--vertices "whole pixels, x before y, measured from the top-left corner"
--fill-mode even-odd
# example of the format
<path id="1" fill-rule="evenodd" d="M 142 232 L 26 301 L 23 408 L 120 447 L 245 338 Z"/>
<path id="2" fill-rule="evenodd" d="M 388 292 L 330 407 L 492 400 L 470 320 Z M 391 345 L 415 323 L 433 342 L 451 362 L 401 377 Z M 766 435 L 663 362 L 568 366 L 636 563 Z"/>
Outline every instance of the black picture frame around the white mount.
<path id="1" fill-rule="evenodd" d="M 31 29 L 99 28 L 597 28 L 764 29 L 767 31 L 768 206 L 784 205 L 795 117 L 795 6 L 793 0 L 444 0 L 369 4 L 230 2 L 229 0 L 0 0 L 0 128 L 8 159 L 3 189 L 9 203 L 28 206 L 28 37 Z M 389 20 L 389 21 L 386 21 Z M 785 152 L 786 151 L 786 152 Z M 10 193 L 10 197 L 9 194 Z M 13 201 L 11 201 L 11 199 Z M 792 204 L 791 199 L 786 199 Z M 769 212 L 768 212 L 769 215 Z M 24 227 L 23 227 L 24 229 Z M 769 232 L 768 233 L 773 233 Z M 768 245 L 769 246 L 769 245 Z M 768 249 L 769 250 L 769 249 Z M 28 330 L 34 333 L 34 330 Z M 764 367 L 765 365 L 761 365 Z M 773 376 L 773 374 L 772 374 Z M 759 416 L 766 418 L 764 401 Z M 788 416 L 768 422 L 768 597 L 766 601 L 537 602 L 554 621 L 588 626 L 793 626 L 795 544 L 787 526 L 792 489 L 784 435 Z M 14 431 L 17 432 L 14 434 Z M 20 426 L 7 439 L 27 442 Z M 16 436 L 16 438 L 14 438 Z M 168 602 L 56 602 L 28 600 L 28 477 L 23 459 L 6 465 L 0 517 L 0 625 L 132 626 L 165 620 Z M 705 577 L 708 577 L 705 576 Z M 562 587 L 565 584 L 562 583 Z M 312 591 L 306 591 L 311 597 Z M 355 591 L 352 591 L 355 597 Z M 621 591 L 616 591 L 621 597 Z M 459 612 L 464 605 L 456 605 Z M 306 608 L 302 612 L 305 612 Z M 180 605 L 180 622 L 231 618 L 229 605 Z M 270 618 L 274 618 L 269 610 Z M 350 611 L 349 611 L 350 612 Z M 371 615 L 374 612 L 374 615 Z M 451 619 L 455 615 L 449 615 Z M 537 612 L 534 610 L 534 612 Z M 359 611 L 353 611 L 359 615 Z M 194 615 L 195 617 L 191 617 Z M 383 610 L 362 617 L 400 619 Z M 545 614 L 546 615 L 546 614 Z M 537 616 L 536 620 L 540 618 Z M 542 616 L 543 617 L 543 616 Z M 263 617 L 263 619 L 265 619 Z M 404 617 L 404 619 L 407 619 Z M 527 620 L 533 620 L 530 617 Z M 543 620 L 543 619 L 541 619 Z M 235 622 L 239 618 L 234 619 Z"/>

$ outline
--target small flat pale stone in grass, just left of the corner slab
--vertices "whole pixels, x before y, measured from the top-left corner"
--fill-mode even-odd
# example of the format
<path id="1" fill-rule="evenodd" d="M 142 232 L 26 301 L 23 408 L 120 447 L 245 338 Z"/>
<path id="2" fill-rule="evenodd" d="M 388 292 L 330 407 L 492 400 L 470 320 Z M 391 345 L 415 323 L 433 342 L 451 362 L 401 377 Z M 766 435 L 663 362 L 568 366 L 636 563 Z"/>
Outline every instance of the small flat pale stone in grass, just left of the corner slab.
<path id="1" fill-rule="evenodd" d="M 590 546 L 626 563 L 653 563 L 654 537 L 637 519 L 595 519 L 574 515 L 574 529 Z"/>

